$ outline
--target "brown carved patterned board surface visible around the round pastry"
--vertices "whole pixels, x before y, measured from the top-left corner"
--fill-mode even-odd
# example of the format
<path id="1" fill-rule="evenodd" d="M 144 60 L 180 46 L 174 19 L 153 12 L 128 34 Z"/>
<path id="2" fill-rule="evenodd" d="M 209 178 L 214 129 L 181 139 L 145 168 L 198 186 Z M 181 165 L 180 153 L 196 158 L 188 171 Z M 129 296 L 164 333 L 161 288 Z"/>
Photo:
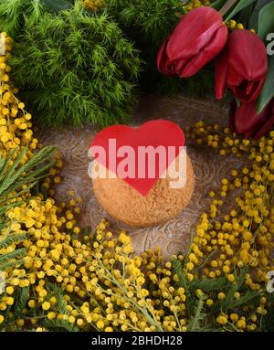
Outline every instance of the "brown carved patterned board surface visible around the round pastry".
<path id="1" fill-rule="evenodd" d="M 220 110 L 215 101 L 196 101 L 182 96 L 174 98 L 145 96 L 132 124 L 138 125 L 150 119 L 169 119 L 177 122 L 183 130 L 186 125 L 193 125 L 201 120 L 227 125 L 227 110 Z M 92 192 L 92 183 L 88 175 L 90 162 L 88 150 L 96 132 L 96 128 L 92 126 L 79 129 L 68 127 L 62 131 L 47 129 L 39 132 L 41 143 L 58 145 L 64 160 L 63 181 L 58 186 L 56 198 L 62 201 L 68 198 L 68 191 L 73 190 L 76 196 L 83 198 L 81 217 L 83 227 L 89 226 L 92 232 L 100 222 L 100 218 L 107 217 L 113 223 L 115 230 L 123 228 L 131 234 L 132 244 L 137 252 L 161 246 L 163 256 L 167 258 L 178 251 L 185 251 L 189 245 L 191 229 L 195 228 L 199 215 L 208 207 L 208 192 L 219 188 L 220 180 L 228 174 L 232 164 L 236 168 L 241 165 L 241 161 L 234 157 L 228 155 L 224 158 L 215 150 L 186 140 L 187 152 L 195 170 L 195 193 L 190 205 L 179 217 L 164 225 L 153 228 L 130 228 L 109 217 Z"/>

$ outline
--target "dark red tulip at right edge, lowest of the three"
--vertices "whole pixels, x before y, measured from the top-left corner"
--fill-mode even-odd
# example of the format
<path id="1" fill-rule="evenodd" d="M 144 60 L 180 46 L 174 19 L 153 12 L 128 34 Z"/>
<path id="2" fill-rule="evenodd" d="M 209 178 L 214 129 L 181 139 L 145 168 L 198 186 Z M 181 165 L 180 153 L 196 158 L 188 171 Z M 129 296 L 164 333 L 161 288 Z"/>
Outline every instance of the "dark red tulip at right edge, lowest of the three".
<path id="1" fill-rule="evenodd" d="M 274 128 L 274 99 L 257 113 L 257 101 L 242 102 L 240 107 L 233 102 L 230 109 L 230 129 L 233 133 L 244 134 L 246 138 L 259 139 Z"/>

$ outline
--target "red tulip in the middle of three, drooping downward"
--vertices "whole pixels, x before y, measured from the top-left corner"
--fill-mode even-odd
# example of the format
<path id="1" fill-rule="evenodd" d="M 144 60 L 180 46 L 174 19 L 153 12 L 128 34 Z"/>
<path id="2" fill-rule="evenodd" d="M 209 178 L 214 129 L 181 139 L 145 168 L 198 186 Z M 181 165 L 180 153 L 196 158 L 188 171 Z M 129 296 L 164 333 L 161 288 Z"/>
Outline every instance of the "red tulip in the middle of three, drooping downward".
<path id="1" fill-rule="evenodd" d="M 241 101 L 255 101 L 268 71 L 267 50 L 262 40 L 246 29 L 236 29 L 216 60 L 216 99 L 229 88 Z"/>

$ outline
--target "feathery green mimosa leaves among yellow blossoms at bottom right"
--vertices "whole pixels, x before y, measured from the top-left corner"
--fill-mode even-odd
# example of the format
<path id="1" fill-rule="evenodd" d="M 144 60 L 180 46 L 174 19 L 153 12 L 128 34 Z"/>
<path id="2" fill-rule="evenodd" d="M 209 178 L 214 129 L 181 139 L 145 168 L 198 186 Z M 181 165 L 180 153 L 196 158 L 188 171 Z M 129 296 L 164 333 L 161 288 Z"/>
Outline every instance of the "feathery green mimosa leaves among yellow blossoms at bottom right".
<path id="1" fill-rule="evenodd" d="M 185 261 L 173 260 L 174 273 L 178 278 L 177 285 L 183 287 L 187 295 L 186 312 L 190 319 L 188 331 L 219 331 L 220 326 L 215 321 L 217 314 L 220 312 L 232 312 L 250 303 L 259 304 L 261 291 L 250 291 L 244 283 L 248 274 L 248 266 L 235 271 L 236 281 L 231 283 L 225 277 L 214 279 L 199 278 L 194 281 L 188 281 L 185 278 L 184 264 Z M 201 295 L 197 295 L 196 291 L 201 291 Z M 210 308 L 206 308 L 205 295 L 207 297 L 209 295 L 211 297 L 214 296 L 212 299 L 216 299 L 218 292 L 225 293 L 226 298 L 216 302 Z M 236 299 L 235 293 L 239 293 L 241 296 Z M 266 322 L 266 324 L 268 323 Z M 266 325 L 266 327 L 269 327 L 269 325 Z M 229 328 L 229 325 L 227 325 L 227 330 L 233 331 L 233 329 Z"/>

